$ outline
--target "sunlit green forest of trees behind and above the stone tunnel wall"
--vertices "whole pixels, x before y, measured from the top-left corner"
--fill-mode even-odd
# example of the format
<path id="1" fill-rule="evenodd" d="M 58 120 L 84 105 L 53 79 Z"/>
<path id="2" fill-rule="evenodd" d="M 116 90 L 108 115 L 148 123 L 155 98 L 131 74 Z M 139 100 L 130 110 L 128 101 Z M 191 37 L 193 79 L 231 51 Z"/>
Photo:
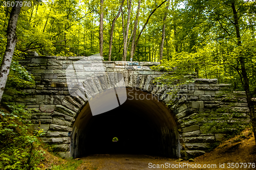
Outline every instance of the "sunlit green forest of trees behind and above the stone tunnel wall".
<path id="1" fill-rule="evenodd" d="M 161 82 L 196 75 L 230 84 L 231 91 L 245 91 L 256 134 L 255 0 L 19 2 L 24 4 L 20 12 L 16 11 L 15 29 L 9 26 L 18 2 L 0 2 L 1 92 L 5 89 L 3 100 L 3 92 L 0 96 L 2 103 L 12 102 L 8 92 L 22 94 L 17 89 L 35 84 L 33 76 L 18 63 L 31 52 L 39 56 L 99 53 L 104 61 L 161 62 L 153 69 L 176 73 L 164 75 L 158 79 Z M 6 71 L 3 63 L 11 51 L 11 34 L 16 44 Z M 3 74 L 8 76 L 7 82 Z"/>

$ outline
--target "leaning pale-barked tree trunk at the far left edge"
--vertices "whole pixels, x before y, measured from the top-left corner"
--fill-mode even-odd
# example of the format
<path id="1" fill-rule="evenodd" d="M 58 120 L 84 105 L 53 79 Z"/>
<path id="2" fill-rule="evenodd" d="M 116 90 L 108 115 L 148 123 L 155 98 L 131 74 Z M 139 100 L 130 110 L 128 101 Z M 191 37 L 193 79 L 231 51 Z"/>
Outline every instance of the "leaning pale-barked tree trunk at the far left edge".
<path id="1" fill-rule="evenodd" d="M 19 2 L 23 2 L 23 0 L 18 1 L 18 3 Z M 16 4 L 14 7 L 12 7 L 12 11 L 8 22 L 6 50 L 0 67 L 0 101 L 5 90 L 5 85 L 11 67 L 14 48 L 16 45 L 16 27 L 20 9 L 22 9 L 22 7 L 20 7 L 19 5 L 16 6 Z"/>

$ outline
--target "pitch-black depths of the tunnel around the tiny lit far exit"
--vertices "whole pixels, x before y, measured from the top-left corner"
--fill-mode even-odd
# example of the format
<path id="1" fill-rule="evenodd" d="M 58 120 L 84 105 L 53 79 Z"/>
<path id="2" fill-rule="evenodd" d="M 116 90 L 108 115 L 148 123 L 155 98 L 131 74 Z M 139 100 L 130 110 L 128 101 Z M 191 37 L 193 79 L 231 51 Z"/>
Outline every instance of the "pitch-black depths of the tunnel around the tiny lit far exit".
<path id="1" fill-rule="evenodd" d="M 161 138 L 155 124 L 133 108 L 118 107 L 93 116 L 88 125 L 88 154 L 157 154 Z M 114 137 L 118 141 L 112 141 Z M 151 148 L 151 150 L 149 150 Z"/>

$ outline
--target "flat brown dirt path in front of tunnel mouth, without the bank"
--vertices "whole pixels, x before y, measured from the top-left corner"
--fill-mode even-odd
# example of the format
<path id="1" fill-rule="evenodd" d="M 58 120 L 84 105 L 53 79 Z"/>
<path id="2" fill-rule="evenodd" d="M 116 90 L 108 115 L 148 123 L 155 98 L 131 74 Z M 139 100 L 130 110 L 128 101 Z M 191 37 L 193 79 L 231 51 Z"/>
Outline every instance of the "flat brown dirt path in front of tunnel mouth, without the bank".
<path id="1" fill-rule="evenodd" d="M 147 155 L 92 155 L 83 157 L 81 160 L 83 160 L 84 163 L 78 167 L 77 170 L 219 169 L 219 165 L 216 165 L 216 168 L 195 168 L 198 167 L 199 162 L 179 161 L 178 159 Z M 188 164 L 190 164 L 190 167 L 188 167 Z M 201 164 L 201 166 L 203 166 L 203 164 Z"/>

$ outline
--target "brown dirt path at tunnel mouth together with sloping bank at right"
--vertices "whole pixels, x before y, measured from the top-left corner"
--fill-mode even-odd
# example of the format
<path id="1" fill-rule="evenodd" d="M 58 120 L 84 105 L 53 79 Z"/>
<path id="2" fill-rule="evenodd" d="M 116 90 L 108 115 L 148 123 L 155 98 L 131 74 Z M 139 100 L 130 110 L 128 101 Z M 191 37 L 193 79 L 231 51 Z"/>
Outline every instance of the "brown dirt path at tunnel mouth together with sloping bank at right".
<path id="1" fill-rule="evenodd" d="M 91 155 L 83 157 L 81 160 L 83 160 L 83 163 L 77 170 L 256 169 L 256 145 L 251 130 L 245 130 L 240 135 L 223 141 L 219 147 L 213 151 L 195 158 L 193 162 L 157 156 L 124 154 Z M 231 163 L 234 165 L 234 168 L 231 167 Z M 254 168 L 252 167 L 252 163 L 254 164 Z M 188 164 L 190 167 L 188 167 Z M 220 165 L 222 165 L 222 167 L 220 167 Z"/>

